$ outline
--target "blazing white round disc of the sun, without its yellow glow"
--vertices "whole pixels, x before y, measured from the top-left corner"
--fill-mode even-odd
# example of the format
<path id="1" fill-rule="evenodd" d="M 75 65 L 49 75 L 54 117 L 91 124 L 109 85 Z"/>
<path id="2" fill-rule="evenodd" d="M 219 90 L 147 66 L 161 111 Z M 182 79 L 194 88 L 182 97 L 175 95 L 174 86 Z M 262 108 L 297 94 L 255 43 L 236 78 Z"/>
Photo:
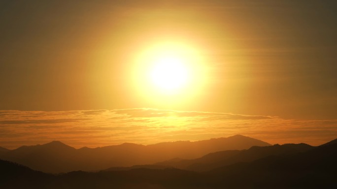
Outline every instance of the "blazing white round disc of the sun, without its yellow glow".
<path id="1" fill-rule="evenodd" d="M 152 83 L 161 90 L 172 92 L 184 87 L 189 80 L 189 68 L 179 56 L 158 57 L 150 72 Z"/>

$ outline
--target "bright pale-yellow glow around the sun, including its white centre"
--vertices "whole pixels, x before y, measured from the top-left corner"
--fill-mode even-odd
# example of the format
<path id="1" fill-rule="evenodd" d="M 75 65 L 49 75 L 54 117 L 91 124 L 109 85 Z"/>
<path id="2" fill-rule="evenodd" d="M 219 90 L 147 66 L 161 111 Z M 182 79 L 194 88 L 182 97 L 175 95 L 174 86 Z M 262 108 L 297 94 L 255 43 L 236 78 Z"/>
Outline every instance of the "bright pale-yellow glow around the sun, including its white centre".
<path id="1" fill-rule="evenodd" d="M 169 41 L 141 49 L 132 74 L 137 94 L 160 104 L 183 104 L 200 95 L 207 69 L 196 47 Z"/>

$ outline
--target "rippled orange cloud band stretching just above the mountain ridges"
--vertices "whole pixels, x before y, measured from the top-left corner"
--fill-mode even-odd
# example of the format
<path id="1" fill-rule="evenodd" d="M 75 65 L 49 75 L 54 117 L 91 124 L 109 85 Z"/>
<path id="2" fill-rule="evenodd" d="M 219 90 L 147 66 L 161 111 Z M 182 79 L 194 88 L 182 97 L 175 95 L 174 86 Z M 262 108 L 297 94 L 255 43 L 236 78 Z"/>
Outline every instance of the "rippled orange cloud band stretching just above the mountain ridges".
<path id="1" fill-rule="evenodd" d="M 269 143 L 319 145 L 337 136 L 337 120 L 287 120 L 264 115 L 151 108 L 75 111 L 0 111 L 0 146 L 51 140 L 74 147 L 122 142 L 152 144 L 247 135 Z"/>

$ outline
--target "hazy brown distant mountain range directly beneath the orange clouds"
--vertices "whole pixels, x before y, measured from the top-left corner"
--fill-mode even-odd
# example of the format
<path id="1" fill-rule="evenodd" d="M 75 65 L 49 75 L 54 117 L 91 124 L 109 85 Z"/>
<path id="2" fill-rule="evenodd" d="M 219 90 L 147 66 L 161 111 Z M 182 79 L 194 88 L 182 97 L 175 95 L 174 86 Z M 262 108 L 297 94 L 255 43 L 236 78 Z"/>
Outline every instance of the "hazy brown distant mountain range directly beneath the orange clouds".
<path id="1" fill-rule="evenodd" d="M 242 150 L 270 144 L 242 135 L 196 142 L 176 141 L 153 145 L 123 143 L 99 148 L 74 149 L 60 141 L 22 146 L 0 154 L 0 159 L 17 162 L 43 172 L 102 170 L 108 167 L 153 164 L 172 158 L 195 159 L 223 150 Z"/>

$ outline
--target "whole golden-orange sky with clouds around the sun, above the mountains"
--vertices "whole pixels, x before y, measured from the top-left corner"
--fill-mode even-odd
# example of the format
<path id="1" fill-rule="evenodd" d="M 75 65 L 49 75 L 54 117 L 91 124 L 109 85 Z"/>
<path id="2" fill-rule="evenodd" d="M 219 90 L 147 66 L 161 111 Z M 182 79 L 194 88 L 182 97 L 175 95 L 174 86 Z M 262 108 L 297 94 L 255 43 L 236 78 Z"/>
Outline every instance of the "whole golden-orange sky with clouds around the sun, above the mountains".
<path id="1" fill-rule="evenodd" d="M 335 0 L 0 0 L 0 18 L 0 146 L 337 136 Z M 168 54 L 190 73 L 169 92 L 148 79 Z"/>

